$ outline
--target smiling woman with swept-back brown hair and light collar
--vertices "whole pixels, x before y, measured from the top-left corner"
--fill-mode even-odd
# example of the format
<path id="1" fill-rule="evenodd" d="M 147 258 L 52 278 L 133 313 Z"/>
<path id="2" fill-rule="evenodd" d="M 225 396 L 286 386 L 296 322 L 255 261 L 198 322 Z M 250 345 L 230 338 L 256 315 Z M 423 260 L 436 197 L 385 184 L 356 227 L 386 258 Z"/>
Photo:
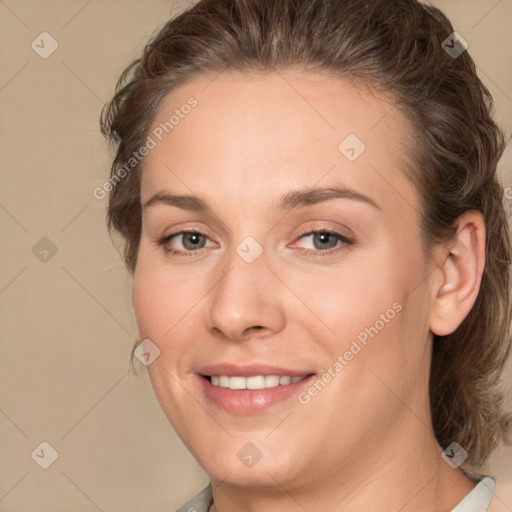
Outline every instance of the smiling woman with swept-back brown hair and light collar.
<path id="1" fill-rule="evenodd" d="M 415 0 L 202 0 L 125 70 L 108 222 L 180 511 L 480 511 L 507 425 L 503 135 Z M 461 464 L 466 466 L 462 468 Z"/>

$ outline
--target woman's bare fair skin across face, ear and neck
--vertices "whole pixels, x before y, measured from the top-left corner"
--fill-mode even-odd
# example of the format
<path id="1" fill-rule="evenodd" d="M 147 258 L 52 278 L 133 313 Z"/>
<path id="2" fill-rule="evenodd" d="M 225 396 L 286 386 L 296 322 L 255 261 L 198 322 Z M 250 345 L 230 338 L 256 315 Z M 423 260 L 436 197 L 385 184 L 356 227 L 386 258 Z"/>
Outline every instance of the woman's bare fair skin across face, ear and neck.
<path id="1" fill-rule="evenodd" d="M 453 332 L 476 299 L 481 215 L 466 212 L 427 260 L 405 176 L 411 128 L 390 98 L 299 69 L 224 72 L 169 94 L 153 128 L 190 96 L 198 106 L 145 158 L 141 204 L 167 191 L 199 196 L 211 213 L 143 209 L 133 304 L 141 337 L 161 351 L 148 366 L 156 396 L 210 476 L 216 510 L 451 510 L 474 483 L 434 438 L 432 332 Z M 353 162 L 338 150 L 351 133 L 366 145 Z M 378 207 L 342 198 L 277 209 L 292 190 L 332 186 Z M 206 235 L 198 256 L 158 244 L 190 228 Z M 303 233 L 325 228 L 354 243 L 334 237 L 339 250 L 313 256 L 327 248 Z M 248 236 L 263 250 L 250 264 L 236 252 Z M 166 247 L 191 245 L 178 235 Z M 219 362 L 322 375 L 394 303 L 401 311 L 308 404 L 243 416 L 198 386 L 195 372 Z M 248 442 L 262 454 L 250 468 L 237 457 Z"/>

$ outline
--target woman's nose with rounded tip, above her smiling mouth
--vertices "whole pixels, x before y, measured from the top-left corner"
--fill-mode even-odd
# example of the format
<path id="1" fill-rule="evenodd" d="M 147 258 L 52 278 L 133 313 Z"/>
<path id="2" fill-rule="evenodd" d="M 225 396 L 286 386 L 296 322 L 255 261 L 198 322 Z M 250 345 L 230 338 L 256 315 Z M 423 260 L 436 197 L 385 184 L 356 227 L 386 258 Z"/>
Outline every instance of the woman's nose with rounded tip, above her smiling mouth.
<path id="1" fill-rule="evenodd" d="M 233 251 L 226 272 L 208 295 L 207 327 L 232 341 L 271 336 L 285 324 L 284 294 L 264 254 L 247 263 Z"/>

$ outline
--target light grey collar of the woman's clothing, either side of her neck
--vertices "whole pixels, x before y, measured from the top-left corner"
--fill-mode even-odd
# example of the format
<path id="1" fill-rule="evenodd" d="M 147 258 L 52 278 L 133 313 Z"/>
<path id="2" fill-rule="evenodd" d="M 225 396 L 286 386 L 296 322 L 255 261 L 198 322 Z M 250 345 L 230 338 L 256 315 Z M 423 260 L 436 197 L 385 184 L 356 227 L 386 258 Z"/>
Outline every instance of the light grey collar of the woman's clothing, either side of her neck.
<path id="1" fill-rule="evenodd" d="M 467 477 L 478 482 L 451 512 L 486 512 L 496 487 L 496 479 L 459 468 Z M 208 484 L 201 492 L 182 505 L 176 512 L 208 512 L 213 503 L 212 486 Z"/>

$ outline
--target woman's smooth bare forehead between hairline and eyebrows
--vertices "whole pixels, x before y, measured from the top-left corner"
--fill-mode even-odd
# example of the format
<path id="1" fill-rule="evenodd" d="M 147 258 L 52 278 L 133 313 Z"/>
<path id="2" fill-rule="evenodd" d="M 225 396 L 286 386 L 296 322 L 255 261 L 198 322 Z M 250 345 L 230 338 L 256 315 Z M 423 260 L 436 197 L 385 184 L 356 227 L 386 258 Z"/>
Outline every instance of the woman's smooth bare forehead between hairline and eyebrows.
<path id="1" fill-rule="evenodd" d="M 141 199 L 168 187 L 247 201 L 314 186 L 323 176 L 322 185 L 370 195 L 382 194 L 387 181 L 392 195 L 400 186 L 411 196 L 403 175 L 409 131 L 391 97 L 338 77 L 301 70 L 204 75 L 162 102 Z"/>

